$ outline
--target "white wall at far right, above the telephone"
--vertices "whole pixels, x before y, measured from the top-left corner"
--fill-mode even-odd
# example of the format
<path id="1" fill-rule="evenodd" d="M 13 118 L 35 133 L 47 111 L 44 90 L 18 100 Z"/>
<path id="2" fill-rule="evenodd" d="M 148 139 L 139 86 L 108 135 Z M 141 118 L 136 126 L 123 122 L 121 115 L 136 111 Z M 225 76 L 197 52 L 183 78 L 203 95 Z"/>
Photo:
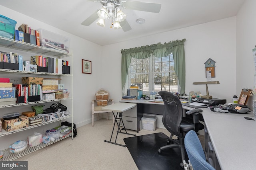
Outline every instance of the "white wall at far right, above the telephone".
<path id="1" fill-rule="evenodd" d="M 236 16 L 236 92 L 240 95 L 242 88 L 254 89 L 255 65 L 252 49 L 256 45 L 256 1 L 246 0 Z M 250 97 L 248 104 L 252 109 Z"/>

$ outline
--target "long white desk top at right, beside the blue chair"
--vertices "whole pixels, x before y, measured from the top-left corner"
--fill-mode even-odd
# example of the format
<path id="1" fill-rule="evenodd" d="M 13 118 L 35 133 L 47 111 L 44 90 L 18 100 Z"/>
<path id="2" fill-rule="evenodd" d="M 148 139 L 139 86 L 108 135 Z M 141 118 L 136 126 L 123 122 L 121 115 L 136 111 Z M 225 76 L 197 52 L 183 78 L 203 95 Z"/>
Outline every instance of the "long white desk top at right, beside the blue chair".
<path id="1" fill-rule="evenodd" d="M 221 169 L 254 169 L 256 121 L 244 119 L 255 119 L 252 111 L 248 114 L 214 113 L 205 108 L 203 117 Z"/>

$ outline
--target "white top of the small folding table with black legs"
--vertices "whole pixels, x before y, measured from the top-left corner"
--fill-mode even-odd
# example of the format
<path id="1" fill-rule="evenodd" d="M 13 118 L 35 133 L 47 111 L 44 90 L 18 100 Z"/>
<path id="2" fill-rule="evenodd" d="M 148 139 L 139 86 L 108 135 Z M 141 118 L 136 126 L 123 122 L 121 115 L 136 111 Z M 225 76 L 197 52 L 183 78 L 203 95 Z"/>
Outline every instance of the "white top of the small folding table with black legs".
<path id="1" fill-rule="evenodd" d="M 131 109 L 132 107 L 135 107 L 137 104 L 135 103 L 115 103 L 115 104 L 110 104 L 108 106 L 102 107 L 102 110 L 107 110 L 107 111 L 117 111 L 117 112 L 124 112 L 126 110 Z"/>

